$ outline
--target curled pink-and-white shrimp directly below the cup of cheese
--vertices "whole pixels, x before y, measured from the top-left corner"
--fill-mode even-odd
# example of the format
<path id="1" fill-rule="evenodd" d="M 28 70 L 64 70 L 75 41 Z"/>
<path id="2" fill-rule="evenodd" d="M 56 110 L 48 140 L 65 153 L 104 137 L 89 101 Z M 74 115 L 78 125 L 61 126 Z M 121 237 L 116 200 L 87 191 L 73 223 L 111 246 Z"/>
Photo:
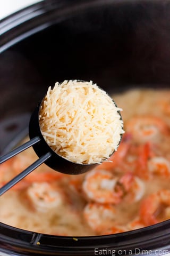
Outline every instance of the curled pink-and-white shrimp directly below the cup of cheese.
<path id="1" fill-rule="evenodd" d="M 122 191 L 116 191 L 117 178 L 105 170 L 92 170 L 88 172 L 82 183 L 84 195 L 96 203 L 113 203 L 121 201 Z"/>

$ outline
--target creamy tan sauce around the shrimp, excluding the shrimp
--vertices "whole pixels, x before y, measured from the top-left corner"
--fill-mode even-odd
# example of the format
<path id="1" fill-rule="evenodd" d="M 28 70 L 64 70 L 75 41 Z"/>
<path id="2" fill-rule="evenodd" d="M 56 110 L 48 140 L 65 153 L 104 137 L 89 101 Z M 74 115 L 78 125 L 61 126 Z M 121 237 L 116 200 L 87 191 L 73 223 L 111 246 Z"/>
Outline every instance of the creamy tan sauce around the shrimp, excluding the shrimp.
<path id="1" fill-rule="evenodd" d="M 122 117 L 124 121 L 125 134 L 126 123 L 128 123 L 128 121 L 136 115 L 151 115 L 159 117 L 166 123 L 169 129 L 170 91 L 137 89 L 113 95 L 113 99 L 115 100 L 116 104 L 123 109 Z M 136 142 L 133 141 L 132 138 L 130 139 L 130 143 L 133 145 L 133 147 L 138 148 L 141 145 L 144 145 L 146 142 Z M 152 145 L 154 146 L 152 147 Z M 158 157 L 165 157 L 170 164 L 169 145 L 170 133 L 168 134 L 167 132 L 166 134 L 160 132 L 160 135 L 157 135 L 154 141 L 151 140 L 151 147 L 153 148 L 152 151 L 154 152 L 154 156 L 156 155 Z M 111 233 L 117 233 L 117 227 L 121 227 L 124 231 L 138 228 L 137 226 L 130 228 L 129 224 L 135 219 L 142 219 L 140 215 L 140 207 L 142 201 L 145 200 L 148 195 L 157 193 L 157 191 L 163 188 L 169 189 L 170 170 L 169 174 L 165 174 L 163 171 L 160 173 L 154 173 L 148 170 L 140 171 L 140 169 L 138 172 L 138 168 L 136 165 L 134 165 L 134 163 L 138 163 L 139 155 L 135 155 L 135 150 L 133 155 L 133 147 L 131 151 L 128 151 L 125 157 L 122 158 L 121 164 L 115 165 L 112 170 L 109 171 L 111 171 L 114 177 L 117 179 L 121 178 L 122 175 L 124 175 L 126 172 L 131 171 L 135 177 L 139 177 L 139 179 L 145 184 L 145 189 L 138 201 L 134 201 L 131 196 L 131 192 L 127 192 L 131 190 L 125 190 L 125 193 L 122 195 L 122 199 L 119 203 L 108 204 L 114 206 L 115 215 L 114 218 L 112 218 L 111 221 L 106 224 L 106 230 L 104 230 L 103 227 L 107 222 L 107 218 L 105 219 L 104 217 L 100 216 L 102 228 L 99 227 L 95 229 L 91 228 L 89 223 L 87 223 L 87 219 L 84 218 L 84 207 L 89 202 L 94 202 L 93 199 L 89 199 L 86 193 L 84 194 L 82 189 L 82 184 L 84 179 L 86 179 L 87 174 L 74 176 L 60 174 L 49 169 L 49 167 L 44 164 L 38 167 L 37 170 L 33 171 L 33 173 L 29 174 L 27 179 L 22 180 L 18 184 L 18 187 L 16 185 L 15 188 L 12 188 L 10 191 L 7 191 L 3 196 L 1 196 L 0 221 L 21 229 L 64 236 L 90 236 L 109 234 L 109 229 L 112 227 L 116 227 L 117 231 L 111 230 Z M 148 156 L 147 164 L 151 157 L 153 156 Z M 36 159 L 37 156 L 33 150 L 28 149 L 25 150 L 24 153 L 15 156 L 11 161 L 2 164 L 0 166 L 0 185 L 1 183 L 3 185 L 7 180 L 11 179 L 14 175 L 24 170 Z M 113 163 L 114 161 L 115 160 L 113 158 Z M 103 169 L 105 169 L 105 165 L 103 166 Z M 101 168 L 99 168 L 99 170 L 100 169 Z M 42 173 L 48 174 L 47 180 L 46 178 L 42 178 L 40 175 Z M 50 174 L 52 174 L 51 178 Z M 40 203 L 42 198 L 40 198 L 40 196 L 38 198 L 37 194 L 35 194 L 35 197 L 37 196 L 38 203 L 35 205 L 35 203 L 31 201 L 28 195 L 28 189 L 32 186 L 33 182 L 41 183 L 41 181 L 50 183 L 50 185 L 55 187 L 57 191 L 60 191 L 61 200 L 56 206 L 50 206 L 49 201 L 53 201 L 53 194 L 47 195 L 47 209 L 45 205 L 46 202 L 43 203 L 43 208 L 41 208 Z M 105 187 L 105 184 L 103 186 Z M 122 189 L 122 187 L 118 188 Z M 94 203 L 97 204 L 97 202 Z M 107 205 L 107 202 L 105 202 L 104 205 Z M 169 206 L 170 198 L 168 207 Z M 148 207 L 150 206 L 148 205 Z M 158 215 L 158 221 L 163 221 L 170 217 L 168 210 L 166 214 L 161 212 Z M 95 221 L 94 223 L 96 226 L 98 225 Z M 141 227 L 144 226 L 146 226 L 146 224 L 142 222 Z"/>

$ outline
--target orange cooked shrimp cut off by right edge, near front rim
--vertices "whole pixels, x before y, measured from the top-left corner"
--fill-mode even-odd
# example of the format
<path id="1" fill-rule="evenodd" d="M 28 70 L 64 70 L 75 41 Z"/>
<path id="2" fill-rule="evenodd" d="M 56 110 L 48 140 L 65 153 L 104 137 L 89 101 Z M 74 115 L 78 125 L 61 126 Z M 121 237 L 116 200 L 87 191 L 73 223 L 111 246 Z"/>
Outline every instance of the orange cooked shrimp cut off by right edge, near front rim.
<path id="1" fill-rule="evenodd" d="M 156 224 L 169 218 L 170 190 L 162 189 L 149 195 L 140 206 L 140 218 L 146 226 Z M 166 215 L 167 214 L 167 215 Z"/>

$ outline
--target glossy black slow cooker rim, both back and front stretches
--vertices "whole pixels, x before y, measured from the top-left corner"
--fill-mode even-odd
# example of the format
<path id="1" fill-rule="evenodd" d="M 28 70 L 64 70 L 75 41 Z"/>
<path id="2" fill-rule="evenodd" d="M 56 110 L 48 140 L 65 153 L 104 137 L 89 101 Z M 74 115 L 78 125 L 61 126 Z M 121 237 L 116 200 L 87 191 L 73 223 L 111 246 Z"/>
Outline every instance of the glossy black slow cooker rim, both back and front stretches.
<path id="1" fill-rule="evenodd" d="M 80 5 L 86 2 L 86 7 L 97 4 L 103 4 L 103 1 L 81 1 Z M 106 1 L 111 3 L 113 1 Z M 116 1 L 115 1 L 116 2 Z M 120 3 L 123 2 L 119 1 Z M 0 27 L 3 28 L 1 33 L 0 53 L 7 50 L 13 44 L 20 42 L 22 39 L 37 33 L 41 29 L 52 25 L 52 20 L 47 20 L 46 12 L 53 12 L 54 8 L 64 9 L 68 5 L 77 4 L 76 1 L 42 1 L 37 4 L 28 6 L 0 22 Z M 89 5 L 88 5 L 89 4 Z M 24 17 L 24 19 L 22 19 Z M 44 17 L 43 25 L 40 25 L 41 19 Z M 33 20 L 33 22 L 32 22 Z M 2 31 L 2 30 L 1 30 Z M 25 33 L 25 31 L 27 31 Z M 1 249 L 12 250 L 16 253 L 24 253 L 24 255 L 45 254 L 48 255 L 94 255 L 94 248 L 107 248 L 118 250 L 132 250 L 134 254 L 135 248 L 158 250 L 169 249 L 170 239 L 170 220 L 158 223 L 157 225 L 146 228 L 127 231 L 121 234 L 105 235 L 105 236 L 90 236 L 90 237 L 65 237 L 39 234 L 32 231 L 27 231 L 12 226 L 8 226 L 0 222 L 0 245 Z M 139 240 L 140 237 L 140 240 Z"/>

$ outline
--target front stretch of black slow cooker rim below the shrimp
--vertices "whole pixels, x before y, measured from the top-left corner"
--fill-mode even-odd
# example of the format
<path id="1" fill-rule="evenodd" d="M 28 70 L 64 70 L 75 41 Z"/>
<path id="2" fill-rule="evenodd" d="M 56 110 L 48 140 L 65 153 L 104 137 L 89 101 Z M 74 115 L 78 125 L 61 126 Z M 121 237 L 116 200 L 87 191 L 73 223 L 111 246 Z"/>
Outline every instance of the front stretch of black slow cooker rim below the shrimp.
<path id="1" fill-rule="evenodd" d="M 29 252 L 29 255 L 32 255 L 30 254 L 32 252 L 43 254 L 44 250 L 48 255 L 56 255 L 56 252 L 60 255 L 80 255 L 80 252 L 81 255 L 94 255 L 95 249 L 115 250 L 115 253 L 124 251 L 126 254 L 131 251 L 132 255 L 138 249 L 150 250 L 152 253 L 157 252 L 158 254 L 158 251 L 167 252 L 169 250 L 170 221 L 166 220 L 145 228 L 104 236 L 73 237 L 40 234 L 15 228 L 2 222 L 0 222 L 0 230 L 2 249 L 7 246 L 16 252 Z M 161 248 L 160 241 L 162 242 Z"/>

